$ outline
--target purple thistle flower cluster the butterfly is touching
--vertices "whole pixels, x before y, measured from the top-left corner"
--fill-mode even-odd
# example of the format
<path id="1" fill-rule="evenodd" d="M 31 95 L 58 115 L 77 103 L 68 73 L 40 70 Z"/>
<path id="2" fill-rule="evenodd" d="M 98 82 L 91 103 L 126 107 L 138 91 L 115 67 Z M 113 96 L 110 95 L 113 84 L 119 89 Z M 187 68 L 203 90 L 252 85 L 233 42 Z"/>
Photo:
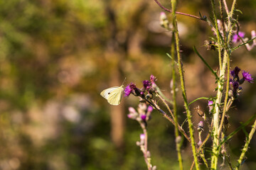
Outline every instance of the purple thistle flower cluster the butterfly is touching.
<path id="1" fill-rule="evenodd" d="M 144 93 L 148 91 L 149 94 L 153 94 L 156 90 L 156 77 L 153 75 L 150 76 L 149 80 L 144 80 L 142 89 L 138 89 L 137 86 L 134 83 L 129 84 L 124 89 L 124 96 L 128 97 L 130 94 L 133 94 L 134 96 L 141 96 L 144 98 Z"/>

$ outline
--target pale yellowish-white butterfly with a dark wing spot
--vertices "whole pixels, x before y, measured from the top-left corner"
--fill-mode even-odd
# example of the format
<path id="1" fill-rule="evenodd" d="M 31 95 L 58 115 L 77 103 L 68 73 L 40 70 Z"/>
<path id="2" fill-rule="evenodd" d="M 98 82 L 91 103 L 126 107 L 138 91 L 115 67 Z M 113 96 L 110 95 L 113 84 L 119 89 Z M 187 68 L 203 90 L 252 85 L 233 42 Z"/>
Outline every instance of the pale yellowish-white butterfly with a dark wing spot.
<path id="1" fill-rule="evenodd" d="M 109 89 L 105 89 L 100 95 L 107 99 L 107 102 L 111 105 L 117 106 L 121 102 L 122 94 L 124 91 L 124 85 L 114 86 Z"/>

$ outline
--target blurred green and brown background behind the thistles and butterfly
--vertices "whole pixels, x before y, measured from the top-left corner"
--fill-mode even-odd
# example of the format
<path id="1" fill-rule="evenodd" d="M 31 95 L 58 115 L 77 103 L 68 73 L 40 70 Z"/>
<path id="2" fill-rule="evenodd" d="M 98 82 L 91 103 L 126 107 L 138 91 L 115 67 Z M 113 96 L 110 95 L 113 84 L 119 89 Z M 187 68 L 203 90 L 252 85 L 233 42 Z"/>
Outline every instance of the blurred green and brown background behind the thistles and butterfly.
<path id="1" fill-rule="evenodd" d="M 160 2 L 171 8 L 169 1 Z M 236 6 L 243 13 L 235 13 L 240 30 L 250 38 L 256 29 L 256 3 L 244 0 Z M 171 36 L 159 25 L 161 11 L 153 0 L 0 1 L 0 169 L 146 169 L 135 144 L 142 130 L 127 118 L 127 108 L 136 108 L 138 98 L 123 98 L 121 105 L 110 106 L 100 92 L 120 86 L 125 78 L 124 85 L 132 81 L 142 86 L 154 74 L 171 97 L 171 60 L 166 55 Z M 212 16 L 210 1 L 179 1 L 178 11 Z M 214 96 L 215 79 L 192 50 L 196 45 L 218 69 L 217 52 L 204 47 L 213 33 L 203 21 L 186 16 L 178 16 L 178 28 L 188 101 Z M 255 78 L 255 55 L 255 49 L 247 52 L 241 47 L 233 52 L 231 67 Z M 242 88 L 228 112 L 227 134 L 256 111 L 256 85 L 245 83 Z M 193 109 L 198 105 L 208 111 L 207 101 L 191 106 L 195 127 L 201 120 Z M 177 169 L 174 126 L 154 111 L 148 129 L 152 164 Z M 232 163 L 249 130 L 250 126 L 230 140 Z M 242 169 L 256 166 L 255 150 L 254 136 Z M 192 157 L 186 140 L 182 153 L 188 169 Z"/>

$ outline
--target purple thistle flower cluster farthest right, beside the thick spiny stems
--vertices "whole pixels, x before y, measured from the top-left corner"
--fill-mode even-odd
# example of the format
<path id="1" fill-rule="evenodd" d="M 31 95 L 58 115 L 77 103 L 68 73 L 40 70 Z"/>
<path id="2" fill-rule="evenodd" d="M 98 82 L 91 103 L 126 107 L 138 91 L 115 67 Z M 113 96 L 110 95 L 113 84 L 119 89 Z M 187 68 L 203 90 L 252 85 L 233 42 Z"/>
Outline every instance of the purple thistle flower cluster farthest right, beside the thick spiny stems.
<path id="1" fill-rule="evenodd" d="M 229 96 L 236 97 L 238 96 L 238 93 L 242 90 L 242 87 L 240 87 L 240 84 L 243 84 L 245 81 L 248 81 L 249 83 L 253 83 L 253 79 L 251 74 L 249 72 L 245 72 L 242 70 L 242 79 L 239 77 L 241 69 L 239 67 L 235 67 L 235 69 L 230 71 L 231 76 L 233 79 L 230 78 L 230 93 Z"/>

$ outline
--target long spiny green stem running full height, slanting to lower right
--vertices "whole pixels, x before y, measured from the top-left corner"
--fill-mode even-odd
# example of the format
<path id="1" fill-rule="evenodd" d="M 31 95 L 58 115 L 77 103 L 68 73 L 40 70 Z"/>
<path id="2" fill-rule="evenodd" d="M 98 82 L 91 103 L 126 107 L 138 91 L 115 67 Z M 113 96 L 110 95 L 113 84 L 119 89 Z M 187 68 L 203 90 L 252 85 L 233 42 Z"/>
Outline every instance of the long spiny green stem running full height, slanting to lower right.
<path id="1" fill-rule="evenodd" d="M 181 79 L 181 89 L 182 89 L 182 96 L 183 96 L 183 101 L 184 105 L 186 108 L 186 115 L 188 118 L 188 128 L 189 128 L 189 133 L 191 137 L 191 147 L 192 147 L 192 152 L 193 152 L 193 159 L 195 161 L 195 166 L 196 169 L 200 169 L 199 163 L 198 163 L 198 157 L 196 153 L 196 143 L 194 140 L 193 136 L 193 123 L 191 120 L 191 111 L 188 108 L 188 101 L 186 97 L 186 89 L 185 89 L 185 82 L 184 82 L 184 77 L 183 77 L 183 69 L 182 69 L 182 63 L 181 63 L 181 53 L 180 53 L 180 44 L 179 44 L 179 38 L 178 38 L 178 26 L 177 26 L 177 21 L 176 21 L 176 0 L 171 0 L 171 9 L 172 9 L 172 16 L 173 16 L 173 28 L 174 28 L 174 35 L 175 35 L 175 40 L 176 40 L 176 54 L 178 58 L 178 73 L 180 75 Z"/>

